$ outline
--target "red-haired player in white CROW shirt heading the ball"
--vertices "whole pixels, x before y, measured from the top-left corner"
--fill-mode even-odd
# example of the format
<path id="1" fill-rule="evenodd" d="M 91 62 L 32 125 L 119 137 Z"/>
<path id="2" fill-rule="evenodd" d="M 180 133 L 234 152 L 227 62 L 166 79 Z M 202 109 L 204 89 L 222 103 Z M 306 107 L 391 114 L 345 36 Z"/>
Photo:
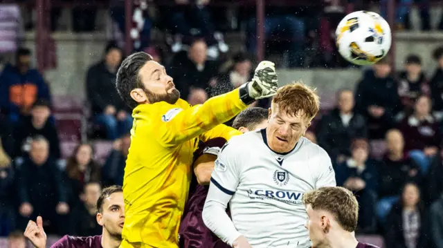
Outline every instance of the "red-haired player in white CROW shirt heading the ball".
<path id="1" fill-rule="evenodd" d="M 336 185 L 325 150 L 302 137 L 318 109 L 318 96 L 305 84 L 283 86 L 268 126 L 221 149 L 203 210 L 206 226 L 221 240 L 236 248 L 311 246 L 302 195 Z"/>

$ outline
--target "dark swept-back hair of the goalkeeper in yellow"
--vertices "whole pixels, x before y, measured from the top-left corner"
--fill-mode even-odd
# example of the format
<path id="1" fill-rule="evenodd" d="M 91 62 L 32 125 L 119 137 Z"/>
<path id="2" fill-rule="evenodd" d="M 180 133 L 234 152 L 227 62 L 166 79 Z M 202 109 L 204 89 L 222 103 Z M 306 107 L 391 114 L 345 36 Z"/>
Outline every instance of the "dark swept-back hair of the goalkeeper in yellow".
<path id="1" fill-rule="evenodd" d="M 145 88 L 138 73 L 146 62 L 151 60 L 151 55 L 138 52 L 129 55 L 129 57 L 123 60 L 120 68 L 118 68 L 116 88 L 118 95 L 120 95 L 123 102 L 125 102 L 129 108 L 135 108 L 138 105 L 138 103 L 132 99 L 130 93 L 134 88 Z"/>

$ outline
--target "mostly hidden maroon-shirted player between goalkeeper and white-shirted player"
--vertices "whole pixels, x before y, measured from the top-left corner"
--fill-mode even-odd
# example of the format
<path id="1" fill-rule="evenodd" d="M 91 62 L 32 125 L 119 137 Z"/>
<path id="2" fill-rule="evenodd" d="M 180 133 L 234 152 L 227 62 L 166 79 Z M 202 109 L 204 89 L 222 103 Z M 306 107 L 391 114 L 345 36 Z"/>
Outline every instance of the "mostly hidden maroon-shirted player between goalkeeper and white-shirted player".
<path id="1" fill-rule="evenodd" d="M 242 133 L 265 128 L 268 124 L 266 108 L 246 108 L 235 117 L 233 128 Z M 201 144 L 195 153 L 198 158 L 194 162 L 194 173 L 198 184 L 186 203 L 183 220 L 180 225 L 180 243 L 182 248 L 221 248 L 230 247 L 214 235 L 203 222 L 201 211 L 208 194 L 210 174 L 214 169 L 214 161 L 226 140 L 215 138 L 206 144 Z"/>

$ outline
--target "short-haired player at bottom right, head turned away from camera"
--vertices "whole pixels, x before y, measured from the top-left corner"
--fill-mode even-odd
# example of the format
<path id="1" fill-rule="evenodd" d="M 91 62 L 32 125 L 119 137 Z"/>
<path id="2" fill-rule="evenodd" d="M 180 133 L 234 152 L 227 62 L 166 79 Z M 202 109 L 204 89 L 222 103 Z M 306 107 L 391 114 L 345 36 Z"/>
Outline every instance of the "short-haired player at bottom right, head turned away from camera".
<path id="1" fill-rule="evenodd" d="M 343 187 L 323 187 L 305 193 L 302 201 L 313 248 L 378 248 L 355 238 L 359 202 L 351 191 Z"/>

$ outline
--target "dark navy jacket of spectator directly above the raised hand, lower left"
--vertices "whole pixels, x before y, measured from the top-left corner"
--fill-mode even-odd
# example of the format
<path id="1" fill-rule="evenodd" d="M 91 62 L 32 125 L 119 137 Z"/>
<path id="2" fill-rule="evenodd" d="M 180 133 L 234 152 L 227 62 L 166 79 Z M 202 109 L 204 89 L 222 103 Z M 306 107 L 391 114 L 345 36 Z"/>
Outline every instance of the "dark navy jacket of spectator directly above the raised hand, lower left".
<path id="1" fill-rule="evenodd" d="M 54 160 L 37 166 L 30 158 L 17 166 L 17 188 L 19 203 L 33 205 L 33 214 L 55 212 L 59 202 L 68 202 L 62 173 Z"/>

